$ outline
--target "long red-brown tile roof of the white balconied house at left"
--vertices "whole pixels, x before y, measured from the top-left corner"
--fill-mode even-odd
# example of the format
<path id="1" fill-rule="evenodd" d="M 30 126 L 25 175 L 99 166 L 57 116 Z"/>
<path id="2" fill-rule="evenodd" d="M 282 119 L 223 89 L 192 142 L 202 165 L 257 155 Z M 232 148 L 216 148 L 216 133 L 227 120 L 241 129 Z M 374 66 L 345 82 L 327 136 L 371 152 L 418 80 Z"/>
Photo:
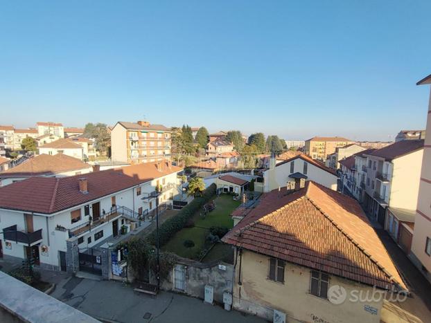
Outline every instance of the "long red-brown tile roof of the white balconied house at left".
<path id="1" fill-rule="evenodd" d="M 52 214 L 182 169 L 176 166 L 169 168 L 165 163 L 164 169 L 159 171 L 156 164 L 143 163 L 60 178 L 30 177 L 0 187 L 0 208 Z M 79 191 L 78 180 L 83 177 L 88 181 L 87 194 Z"/>

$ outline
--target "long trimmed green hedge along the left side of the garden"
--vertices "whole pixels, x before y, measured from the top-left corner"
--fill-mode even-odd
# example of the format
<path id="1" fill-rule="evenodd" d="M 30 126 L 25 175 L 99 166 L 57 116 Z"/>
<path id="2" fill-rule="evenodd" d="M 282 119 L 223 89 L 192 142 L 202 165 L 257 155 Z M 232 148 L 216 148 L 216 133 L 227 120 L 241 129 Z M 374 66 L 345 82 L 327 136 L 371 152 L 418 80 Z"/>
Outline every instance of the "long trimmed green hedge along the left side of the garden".
<path id="1" fill-rule="evenodd" d="M 159 225 L 160 246 L 163 246 L 166 242 L 169 241 L 171 237 L 173 237 L 175 233 L 184 228 L 188 220 L 191 219 L 197 211 L 202 209 L 205 203 L 207 203 L 215 195 L 216 189 L 216 185 L 211 184 L 206 190 L 204 190 L 202 196 L 193 199 L 193 201 L 183 207 L 177 215 L 173 216 L 172 218 L 166 220 L 163 224 Z M 153 231 L 147 237 L 147 241 L 152 245 L 156 244 L 156 231 Z"/>

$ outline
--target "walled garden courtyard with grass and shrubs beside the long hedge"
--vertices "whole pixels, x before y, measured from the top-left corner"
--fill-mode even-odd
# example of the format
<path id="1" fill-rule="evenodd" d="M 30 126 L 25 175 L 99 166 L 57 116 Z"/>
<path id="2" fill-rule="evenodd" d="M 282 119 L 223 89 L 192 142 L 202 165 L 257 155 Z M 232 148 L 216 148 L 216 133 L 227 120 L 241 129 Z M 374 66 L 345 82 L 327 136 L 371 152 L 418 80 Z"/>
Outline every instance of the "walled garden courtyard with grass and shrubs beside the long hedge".
<path id="1" fill-rule="evenodd" d="M 179 257 L 202 260 L 204 262 L 225 260 L 232 254 L 229 246 L 215 243 L 211 237 L 211 228 L 234 227 L 231 213 L 240 205 L 240 201 L 234 201 L 234 196 L 222 194 L 211 199 L 215 203 L 215 209 L 203 216 L 203 210 L 195 212 L 187 228 L 183 228 L 162 247 L 162 250 L 173 252 Z M 191 243 L 190 241 L 193 241 Z M 211 249 L 211 250 L 210 250 Z M 207 252 L 209 250 L 209 252 Z M 203 259 L 202 259 L 203 258 Z M 226 260 L 225 260 L 226 261 Z"/>

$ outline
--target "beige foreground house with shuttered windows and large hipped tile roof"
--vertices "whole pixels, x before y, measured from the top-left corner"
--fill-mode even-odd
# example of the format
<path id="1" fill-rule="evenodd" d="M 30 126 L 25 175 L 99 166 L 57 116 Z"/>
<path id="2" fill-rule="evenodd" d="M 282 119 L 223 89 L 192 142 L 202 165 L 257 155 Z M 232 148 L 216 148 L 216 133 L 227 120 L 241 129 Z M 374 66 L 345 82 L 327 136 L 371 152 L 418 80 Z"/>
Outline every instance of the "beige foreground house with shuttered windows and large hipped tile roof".
<path id="1" fill-rule="evenodd" d="M 358 202 L 308 181 L 234 216 L 242 219 L 222 238 L 235 248 L 233 308 L 269 322 L 390 322 L 383 297 L 333 302 L 328 293 L 407 289 Z"/>

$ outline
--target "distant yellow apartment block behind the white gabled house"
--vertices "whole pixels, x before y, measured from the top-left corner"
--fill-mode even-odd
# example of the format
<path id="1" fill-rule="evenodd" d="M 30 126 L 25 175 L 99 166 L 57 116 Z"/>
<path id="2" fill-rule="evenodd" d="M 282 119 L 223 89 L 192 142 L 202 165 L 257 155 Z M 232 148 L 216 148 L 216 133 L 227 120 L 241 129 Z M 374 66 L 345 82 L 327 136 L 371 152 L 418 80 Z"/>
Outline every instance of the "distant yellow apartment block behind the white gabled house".
<path id="1" fill-rule="evenodd" d="M 353 144 L 354 142 L 342 137 L 313 137 L 305 142 L 304 153 L 313 159 L 325 161 L 328 155 L 335 153 L 338 147 Z"/>

